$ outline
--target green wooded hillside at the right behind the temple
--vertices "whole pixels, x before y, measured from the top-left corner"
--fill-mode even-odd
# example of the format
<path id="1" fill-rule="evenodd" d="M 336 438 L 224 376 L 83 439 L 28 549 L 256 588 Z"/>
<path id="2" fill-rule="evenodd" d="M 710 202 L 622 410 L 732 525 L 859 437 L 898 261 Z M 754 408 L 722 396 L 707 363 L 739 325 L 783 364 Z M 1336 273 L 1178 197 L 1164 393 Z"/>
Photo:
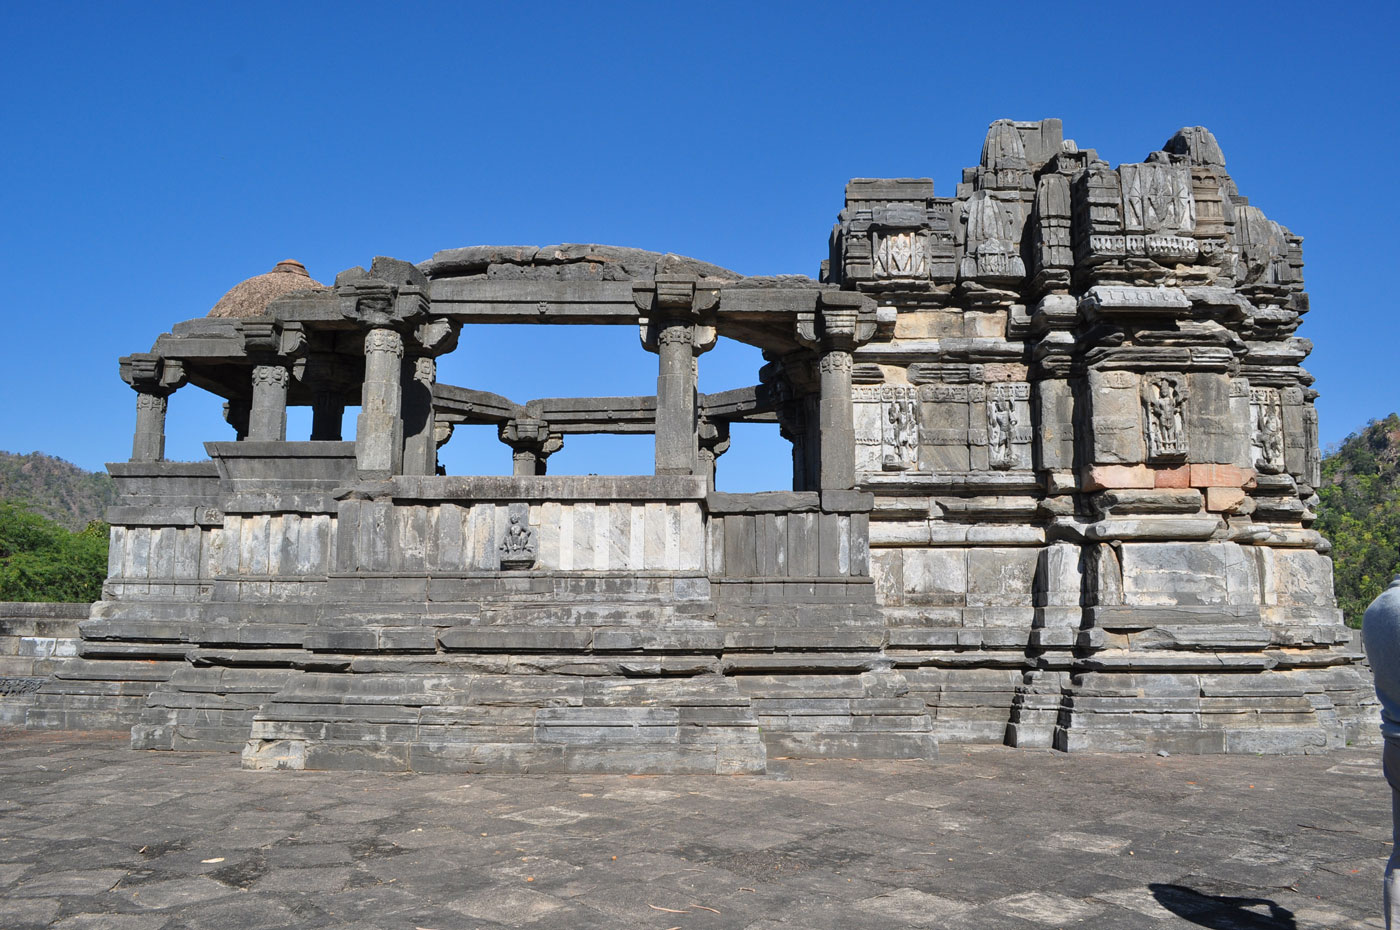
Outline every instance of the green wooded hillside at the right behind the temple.
<path id="1" fill-rule="evenodd" d="M 1313 527 L 1331 539 L 1337 605 L 1361 626 L 1400 571 L 1400 416 L 1372 420 L 1329 450 L 1317 496 Z"/>

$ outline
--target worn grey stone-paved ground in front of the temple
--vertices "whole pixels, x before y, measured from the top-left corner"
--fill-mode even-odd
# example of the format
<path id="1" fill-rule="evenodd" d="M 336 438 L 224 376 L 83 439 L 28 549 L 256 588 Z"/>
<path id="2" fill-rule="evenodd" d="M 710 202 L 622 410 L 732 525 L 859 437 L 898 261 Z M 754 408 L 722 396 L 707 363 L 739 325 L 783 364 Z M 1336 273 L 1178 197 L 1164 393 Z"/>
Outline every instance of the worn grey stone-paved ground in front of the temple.
<path id="1" fill-rule="evenodd" d="M 0 927 L 1380 927 L 1375 756 L 319 775 L 0 731 Z"/>

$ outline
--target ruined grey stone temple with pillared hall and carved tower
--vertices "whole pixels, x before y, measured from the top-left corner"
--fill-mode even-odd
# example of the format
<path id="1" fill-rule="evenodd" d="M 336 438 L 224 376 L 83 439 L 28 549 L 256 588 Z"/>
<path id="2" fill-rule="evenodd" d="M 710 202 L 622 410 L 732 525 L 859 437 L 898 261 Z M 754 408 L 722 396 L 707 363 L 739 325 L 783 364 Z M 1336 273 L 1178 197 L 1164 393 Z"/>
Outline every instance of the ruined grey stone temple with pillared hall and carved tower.
<path id="1" fill-rule="evenodd" d="M 953 196 L 851 181 L 816 280 L 598 245 L 283 262 L 122 359 L 111 576 L 27 726 L 465 772 L 1369 741 L 1302 287 L 1210 132 L 1112 168 L 1056 119 L 993 123 Z M 479 324 L 633 326 L 657 394 L 437 381 Z M 766 364 L 699 394 L 720 338 Z M 207 461 L 164 459 L 185 385 L 227 401 Z M 512 475 L 441 473 L 463 423 Z M 714 490 L 734 423 L 781 430 L 791 490 Z M 547 473 L 575 433 L 654 434 L 655 472 Z"/>

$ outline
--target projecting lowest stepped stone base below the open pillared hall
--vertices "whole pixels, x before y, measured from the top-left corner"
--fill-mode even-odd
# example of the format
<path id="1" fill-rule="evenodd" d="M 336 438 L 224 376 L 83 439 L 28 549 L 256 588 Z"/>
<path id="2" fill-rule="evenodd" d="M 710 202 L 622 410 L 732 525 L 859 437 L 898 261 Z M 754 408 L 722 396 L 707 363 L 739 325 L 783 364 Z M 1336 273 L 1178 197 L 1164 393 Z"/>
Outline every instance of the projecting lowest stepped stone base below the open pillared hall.
<path id="1" fill-rule="evenodd" d="M 304 674 L 253 716 L 248 769 L 760 775 L 752 703 L 722 676 Z"/>

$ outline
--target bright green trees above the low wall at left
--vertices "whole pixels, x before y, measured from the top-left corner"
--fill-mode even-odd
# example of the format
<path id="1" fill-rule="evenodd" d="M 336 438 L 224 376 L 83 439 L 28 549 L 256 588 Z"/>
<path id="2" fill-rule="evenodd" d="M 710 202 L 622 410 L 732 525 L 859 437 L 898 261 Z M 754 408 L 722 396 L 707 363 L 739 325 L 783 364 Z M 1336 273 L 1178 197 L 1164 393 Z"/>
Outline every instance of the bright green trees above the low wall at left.
<path id="1" fill-rule="evenodd" d="M 69 532 L 0 500 L 0 601 L 97 601 L 106 577 L 108 525 Z"/>

